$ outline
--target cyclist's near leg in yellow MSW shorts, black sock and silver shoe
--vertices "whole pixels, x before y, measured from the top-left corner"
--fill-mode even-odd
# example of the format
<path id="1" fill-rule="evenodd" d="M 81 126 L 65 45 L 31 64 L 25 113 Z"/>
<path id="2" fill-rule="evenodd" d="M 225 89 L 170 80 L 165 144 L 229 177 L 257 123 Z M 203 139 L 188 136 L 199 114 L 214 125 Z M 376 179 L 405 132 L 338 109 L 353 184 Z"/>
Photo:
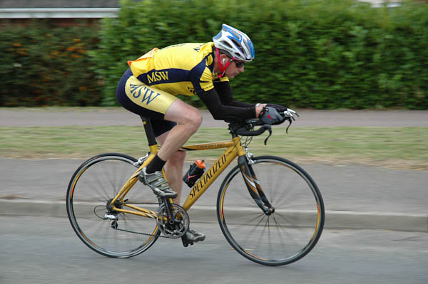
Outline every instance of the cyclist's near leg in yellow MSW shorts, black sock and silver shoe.
<path id="1" fill-rule="evenodd" d="M 188 140 L 188 137 L 198 130 L 201 115 L 195 107 L 191 107 L 174 95 L 158 90 L 155 87 L 145 85 L 133 76 L 131 70 L 127 70 L 118 83 L 116 98 L 126 110 L 134 112 L 145 119 L 152 120 L 154 134 L 156 137 L 163 137 L 160 140 L 161 144 L 163 144 L 161 151 L 153 157 L 147 167 L 141 170 L 140 181 L 150 186 L 153 192 L 159 196 L 175 198 L 177 193 L 172 191 L 170 185 L 165 182 L 165 177 L 161 170 L 165 162 L 171 159 L 168 162 L 170 166 L 165 167 L 165 169 L 168 170 L 167 168 L 169 168 L 168 172 L 170 172 L 170 182 L 173 183 L 173 188 L 180 190 L 181 184 L 178 185 L 178 181 L 180 181 L 183 174 L 184 157 L 180 157 L 180 154 L 175 153 Z M 193 125 L 193 127 L 189 127 L 189 125 Z M 164 135 L 165 132 L 169 132 L 168 135 Z M 178 135 L 176 135 L 177 133 L 174 134 L 174 132 L 178 132 Z M 180 135 L 183 135 L 183 137 L 179 137 Z M 170 136 L 173 137 L 171 139 L 167 138 Z M 168 140 L 172 140 L 172 142 L 168 142 Z M 168 146 L 168 144 L 173 144 L 173 146 Z M 174 171 L 173 168 L 176 164 L 181 164 L 181 166 L 178 166 Z M 173 169 L 173 172 L 171 172 L 171 169 Z"/>

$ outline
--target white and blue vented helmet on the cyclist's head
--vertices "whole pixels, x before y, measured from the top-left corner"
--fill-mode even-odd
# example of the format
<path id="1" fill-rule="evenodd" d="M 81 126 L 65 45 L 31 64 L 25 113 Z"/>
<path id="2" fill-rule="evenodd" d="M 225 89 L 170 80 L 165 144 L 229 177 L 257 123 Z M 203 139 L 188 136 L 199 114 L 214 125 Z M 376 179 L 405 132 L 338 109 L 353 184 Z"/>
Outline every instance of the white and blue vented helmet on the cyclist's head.
<path id="1" fill-rule="evenodd" d="M 213 37 L 214 46 L 228 53 L 232 59 L 252 61 L 254 59 L 254 46 L 250 38 L 242 31 L 223 23 L 217 36 Z"/>

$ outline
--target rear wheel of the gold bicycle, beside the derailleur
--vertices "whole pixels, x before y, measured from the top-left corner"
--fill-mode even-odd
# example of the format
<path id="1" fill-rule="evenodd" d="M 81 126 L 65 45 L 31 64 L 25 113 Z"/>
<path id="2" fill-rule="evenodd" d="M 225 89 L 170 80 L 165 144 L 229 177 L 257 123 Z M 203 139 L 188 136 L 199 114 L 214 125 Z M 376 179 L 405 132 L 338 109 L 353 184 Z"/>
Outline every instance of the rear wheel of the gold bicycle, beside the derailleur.
<path id="1" fill-rule="evenodd" d="M 115 213 L 118 218 L 116 223 L 112 219 L 103 219 L 108 201 L 136 172 L 134 162 L 136 159 L 126 154 L 99 154 L 83 162 L 68 184 L 68 220 L 78 238 L 103 256 L 136 256 L 150 248 L 160 235 L 156 219 L 118 212 Z M 126 194 L 126 203 L 152 204 L 156 211 L 159 205 L 156 196 L 147 186 L 137 183 Z"/>

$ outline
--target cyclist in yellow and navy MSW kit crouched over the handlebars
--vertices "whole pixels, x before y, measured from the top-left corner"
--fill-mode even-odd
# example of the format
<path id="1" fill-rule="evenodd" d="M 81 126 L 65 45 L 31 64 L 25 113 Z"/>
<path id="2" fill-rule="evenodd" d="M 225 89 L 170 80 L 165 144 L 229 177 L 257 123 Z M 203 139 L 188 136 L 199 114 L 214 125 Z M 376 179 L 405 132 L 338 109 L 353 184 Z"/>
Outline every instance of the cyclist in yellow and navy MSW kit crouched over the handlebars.
<path id="1" fill-rule="evenodd" d="M 198 95 L 215 120 L 260 117 L 270 124 L 282 122 L 277 110 L 286 111 L 286 107 L 233 99 L 229 79 L 244 72 L 245 63 L 253 61 L 254 56 L 250 38 L 223 24 L 213 42 L 153 48 L 141 58 L 128 61 L 130 68 L 118 83 L 116 98 L 127 110 L 151 119 L 156 140 L 162 145 L 140 174 L 140 181 L 156 195 L 180 204 L 185 152 L 178 149 L 202 122 L 200 112 L 176 95 Z M 190 229 L 186 237 L 195 242 L 205 239 L 204 234 Z"/>

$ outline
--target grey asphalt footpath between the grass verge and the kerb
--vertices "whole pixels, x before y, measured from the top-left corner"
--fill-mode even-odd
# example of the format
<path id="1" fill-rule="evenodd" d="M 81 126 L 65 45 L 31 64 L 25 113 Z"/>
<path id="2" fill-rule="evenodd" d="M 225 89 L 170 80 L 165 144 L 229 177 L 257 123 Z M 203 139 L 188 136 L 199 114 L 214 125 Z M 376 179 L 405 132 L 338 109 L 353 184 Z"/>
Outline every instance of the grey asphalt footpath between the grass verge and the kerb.
<path id="1" fill-rule="evenodd" d="M 64 201 L 68 182 L 82 162 L 80 159 L 0 159 L 0 201 Z M 320 187 L 326 210 L 397 215 L 428 213 L 426 171 L 357 165 L 305 164 L 302 167 Z M 215 206 L 218 189 L 228 171 L 215 180 L 195 205 Z M 188 192 L 184 186 L 182 201 Z M 0 208 L 1 213 L 6 212 Z M 22 211 L 22 214 L 31 214 L 31 211 Z M 428 231 L 428 223 L 424 230 Z"/>

